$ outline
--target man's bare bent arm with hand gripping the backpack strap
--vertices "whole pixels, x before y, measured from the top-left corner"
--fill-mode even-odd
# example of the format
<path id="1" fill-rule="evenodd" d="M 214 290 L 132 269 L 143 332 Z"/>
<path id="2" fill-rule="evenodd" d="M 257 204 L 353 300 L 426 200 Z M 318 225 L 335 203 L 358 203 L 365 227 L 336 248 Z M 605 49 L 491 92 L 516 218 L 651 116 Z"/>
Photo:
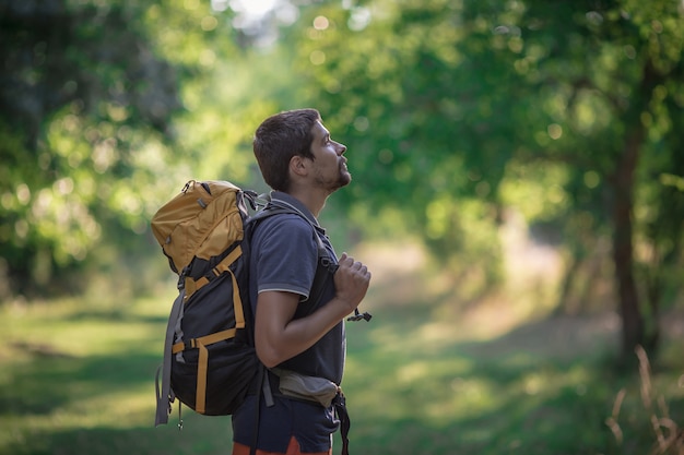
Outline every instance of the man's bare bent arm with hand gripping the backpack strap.
<path id="1" fill-rule="evenodd" d="M 255 344 L 257 356 L 273 368 L 310 348 L 350 314 L 363 300 L 370 272 L 343 253 L 334 274 L 335 297 L 311 314 L 294 320 L 299 295 L 285 291 L 260 292 L 257 300 Z"/>

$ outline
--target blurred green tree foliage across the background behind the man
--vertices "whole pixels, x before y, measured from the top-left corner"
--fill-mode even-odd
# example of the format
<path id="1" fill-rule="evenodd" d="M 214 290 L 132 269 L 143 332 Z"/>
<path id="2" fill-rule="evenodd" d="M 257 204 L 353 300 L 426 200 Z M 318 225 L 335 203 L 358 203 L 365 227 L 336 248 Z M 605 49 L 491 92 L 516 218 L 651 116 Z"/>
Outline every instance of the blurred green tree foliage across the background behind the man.
<path id="1" fill-rule="evenodd" d="M 190 178 L 266 190 L 253 130 L 314 106 L 349 146 L 354 183 L 325 215 L 346 242 L 421 238 L 484 289 L 509 208 L 571 270 L 632 197 L 639 291 L 676 299 L 676 2 L 335 0 L 250 25 L 199 0 L 21 4 L 0 7 L 0 256 L 17 292 L 99 248 L 148 251 L 149 218 Z"/>

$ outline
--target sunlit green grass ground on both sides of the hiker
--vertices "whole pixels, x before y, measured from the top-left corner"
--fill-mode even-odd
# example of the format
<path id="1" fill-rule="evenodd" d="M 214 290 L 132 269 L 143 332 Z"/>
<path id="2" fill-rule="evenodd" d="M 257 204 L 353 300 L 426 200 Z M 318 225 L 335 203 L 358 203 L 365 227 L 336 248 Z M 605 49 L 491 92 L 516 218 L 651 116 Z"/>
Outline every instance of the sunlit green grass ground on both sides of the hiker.
<path id="1" fill-rule="evenodd" d="M 653 371 L 618 374 L 610 318 L 549 320 L 495 301 L 455 311 L 392 299 L 382 283 L 373 321 L 347 325 L 353 455 L 682 453 L 657 441 L 684 421 L 682 339 L 665 340 Z M 229 418 L 186 408 L 182 432 L 176 412 L 153 428 L 172 299 L 1 308 L 0 454 L 229 454 Z"/>

